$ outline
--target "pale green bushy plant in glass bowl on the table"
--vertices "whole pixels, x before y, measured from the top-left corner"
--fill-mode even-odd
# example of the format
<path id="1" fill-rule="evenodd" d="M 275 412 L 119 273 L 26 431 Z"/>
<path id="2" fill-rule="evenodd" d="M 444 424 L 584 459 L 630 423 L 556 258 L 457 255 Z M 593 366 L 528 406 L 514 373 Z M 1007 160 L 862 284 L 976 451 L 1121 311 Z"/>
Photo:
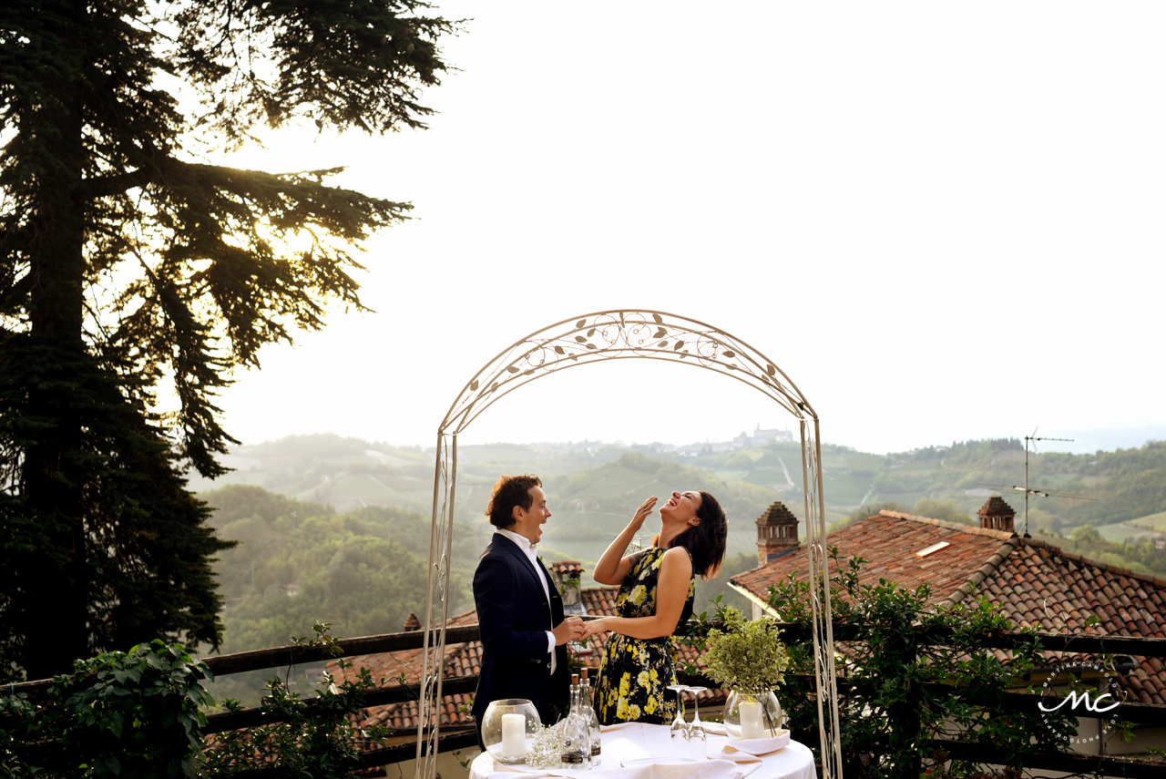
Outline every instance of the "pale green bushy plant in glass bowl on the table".
<path id="1" fill-rule="evenodd" d="M 701 657 L 709 679 L 724 689 L 772 689 L 785 681 L 789 655 L 775 619 L 749 620 L 729 608 L 723 620 L 723 630 L 709 631 Z"/>

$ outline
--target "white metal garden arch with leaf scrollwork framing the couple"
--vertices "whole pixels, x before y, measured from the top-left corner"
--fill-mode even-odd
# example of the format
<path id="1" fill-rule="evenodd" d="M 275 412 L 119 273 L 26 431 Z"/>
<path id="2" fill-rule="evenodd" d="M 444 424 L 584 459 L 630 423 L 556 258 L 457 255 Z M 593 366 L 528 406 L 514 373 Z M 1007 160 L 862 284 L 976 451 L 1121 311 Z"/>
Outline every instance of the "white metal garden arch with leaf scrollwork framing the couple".
<path id="1" fill-rule="evenodd" d="M 819 417 L 809 401 L 777 363 L 704 322 L 665 311 L 616 309 L 575 316 L 520 338 L 486 363 L 454 400 L 437 428 L 434 512 L 426 604 L 423 690 L 419 700 L 416 779 L 434 779 L 441 727 L 445 658 L 447 585 L 457 484 L 457 436 L 498 399 L 556 371 L 612 359 L 683 363 L 736 379 L 761 392 L 799 421 L 802 484 L 806 496 L 806 546 L 809 553 L 814 612 L 814 658 L 821 724 L 822 779 L 842 779 L 834 631 L 826 555 Z M 436 637 L 436 643 L 433 639 Z"/>

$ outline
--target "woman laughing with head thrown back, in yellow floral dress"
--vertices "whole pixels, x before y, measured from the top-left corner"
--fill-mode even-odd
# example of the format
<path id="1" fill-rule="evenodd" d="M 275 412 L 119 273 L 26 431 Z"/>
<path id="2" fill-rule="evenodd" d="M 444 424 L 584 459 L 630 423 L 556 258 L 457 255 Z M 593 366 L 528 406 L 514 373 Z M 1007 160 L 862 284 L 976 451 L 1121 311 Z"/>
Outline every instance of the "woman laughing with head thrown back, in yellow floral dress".
<path id="1" fill-rule="evenodd" d="M 676 647 L 672 634 L 693 616 L 695 576 L 716 576 L 725 556 L 728 524 L 708 492 L 673 492 L 660 507 L 660 533 L 652 547 L 623 556 L 652 513 L 652 496 L 595 567 L 595 581 L 620 584 L 618 617 L 586 624 L 586 634 L 609 631 L 596 680 L 599 723 L 666 724 L 676 716 Z"/>

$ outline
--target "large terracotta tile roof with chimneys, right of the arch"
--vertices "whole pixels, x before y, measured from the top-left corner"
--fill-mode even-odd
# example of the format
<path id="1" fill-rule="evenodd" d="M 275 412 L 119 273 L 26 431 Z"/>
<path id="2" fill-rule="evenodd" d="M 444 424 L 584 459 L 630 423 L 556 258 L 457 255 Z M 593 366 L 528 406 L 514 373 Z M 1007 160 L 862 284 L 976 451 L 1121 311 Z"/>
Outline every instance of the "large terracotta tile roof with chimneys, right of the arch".
<path id="1" fill-rule="evenodd" d="M 919 557 L 941 541 L 948 546 Z M 1020 626 L 1079 631 L 1096 616 L 1103 636 L 1166 638 L 1166 581 L 1088 560 L 1059 547 L 937 519 L 883 511 L 830 534 L 840 556 L 863 556 L 863 584 L 887 578 L 932 587 L 933 605 L 954 604 L 974 589 L 999 604 Z M 807 580 L 805 547 L 731 582 L 764 601 L 768 587 L 795 574 Z M 1000 653 L 1003 657 L 1004 653 Z M 1122 683 L 1142 703 L 1166 703 L 1166 667 L 1158 658 L 1132 658 Z M 1055 661 L 1055 659 L 1054 659 Z"/>

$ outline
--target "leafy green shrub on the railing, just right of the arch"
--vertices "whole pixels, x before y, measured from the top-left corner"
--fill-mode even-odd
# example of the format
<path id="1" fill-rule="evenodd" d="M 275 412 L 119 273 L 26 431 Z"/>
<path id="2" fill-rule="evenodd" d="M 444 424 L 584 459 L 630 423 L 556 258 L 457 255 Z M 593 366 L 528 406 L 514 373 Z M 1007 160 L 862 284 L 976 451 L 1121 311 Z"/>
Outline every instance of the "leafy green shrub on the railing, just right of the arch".
<path id="1" fill-rule="evenodd" d="M 997 714 L 1006 710 L 1005 693 L 1026 672 L 1045 665 L 1034 630 L 1027 631 L 1031 639 L 1011 650 L 1005 665 L 982 641 L 1013 625 L 985 598 L 933 609 L 926 585 L 909 590 L 886 580 L 859 584 L 862 557 L 842 563 L 837 548 L 830 548 L 830 557 L 835 638 L 845 637 L 841 645 L 845 650 L 836 661 L 845 676 L 838 715 L 847 777 L 919 779 L 947 762 L 930 746 L 933 738 L 1003 750 L 1010 770 L 1018 770 L 1033 753 L 1065 750 L 1077 724 L 1067 714 L 1042 715 L 1035 707 Z M 809 595 L 809 584 L 791 576 L 771 588 L 770 605 L 785 620 L 808 627 Z M 940 646 L 929 637 L 936 630 L 946 634 Z M 817 702 L 813 682 L 805 676 L 815 673 L 812 643 L 789 646 L 788 671 L 775 693 L 794 737 L 800 732 L 814 741 Z M 944 767 L 948 777 L 983 771 L 968 762 Z"/>

